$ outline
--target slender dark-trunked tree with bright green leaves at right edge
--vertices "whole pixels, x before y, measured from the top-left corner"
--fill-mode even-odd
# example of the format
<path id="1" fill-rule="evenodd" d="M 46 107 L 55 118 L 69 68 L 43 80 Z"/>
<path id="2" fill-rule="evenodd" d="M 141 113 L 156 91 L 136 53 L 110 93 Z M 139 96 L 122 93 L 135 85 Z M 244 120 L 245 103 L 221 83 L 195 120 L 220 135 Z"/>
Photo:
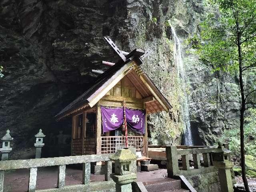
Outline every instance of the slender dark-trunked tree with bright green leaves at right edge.
<path id="1" fill-rule="evenodd" d="M 238 75 L 240 96 L 240 152 L 242 179 L 247 192 L 245 174 L 244 113 L 256 107 L 256 0 L 207 0 L 209 12 L 201 24 L 200 37 L 190 38 L 202 61 L 214 71 L 223 70 Z"/>

